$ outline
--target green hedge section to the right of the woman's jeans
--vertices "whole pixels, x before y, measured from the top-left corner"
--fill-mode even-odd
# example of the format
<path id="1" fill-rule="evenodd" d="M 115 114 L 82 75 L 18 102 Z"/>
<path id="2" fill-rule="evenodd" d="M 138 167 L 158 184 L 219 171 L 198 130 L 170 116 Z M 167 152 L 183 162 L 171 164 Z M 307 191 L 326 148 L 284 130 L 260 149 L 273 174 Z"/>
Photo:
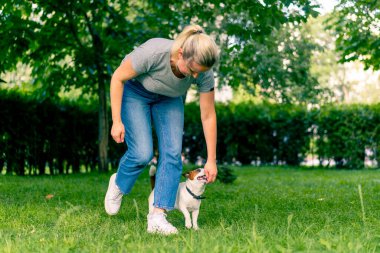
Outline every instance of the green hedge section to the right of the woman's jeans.
<path id="1" fill-rule="evenodd" d="M 380 104 L 325 106 L 217 105 L 218 160 L 243 164 L 299 165 L 307 155 L 337 168 L 364 168 L 367 157 L 380 164 Z M 191 160 L 206 148 L 199 109 L 186 107 L 184 146 Z M 185 150 L 186 151 L 186 150 Z M 198 151 L 198 152 L 197 152 Z M 324 162 L 323 162 L 324 161 Z"/>

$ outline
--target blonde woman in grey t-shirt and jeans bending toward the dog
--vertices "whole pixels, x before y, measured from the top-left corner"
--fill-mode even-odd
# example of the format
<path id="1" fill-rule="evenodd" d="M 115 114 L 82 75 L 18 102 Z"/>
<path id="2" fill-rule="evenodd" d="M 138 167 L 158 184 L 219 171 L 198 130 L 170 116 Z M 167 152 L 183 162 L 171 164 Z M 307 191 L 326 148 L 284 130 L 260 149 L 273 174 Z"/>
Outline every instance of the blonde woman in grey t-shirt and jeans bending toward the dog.
<path id="1" fill-rule="evenodd" d="M 187 26 L 173 40 L 151 39 L 128 54 L 111 79 L 112 138 L 127 143 L 117 173 L 110 178 L 105 197 L 109 215 L 119 211 L 138 175 L 153 157 L 152 123 L 158 137 L 154 211 L 148 226 L 162 234 L 178 233 L 167 220 L 172 210 L 182 172 L 184 101 L 192 83 L 200 92 L 201 120 L 207 144 L 204 166 L 208 183 L 214 182 L 216 166 L 216 113 L 211 67 L 218 48 L 203 29 Z"/>

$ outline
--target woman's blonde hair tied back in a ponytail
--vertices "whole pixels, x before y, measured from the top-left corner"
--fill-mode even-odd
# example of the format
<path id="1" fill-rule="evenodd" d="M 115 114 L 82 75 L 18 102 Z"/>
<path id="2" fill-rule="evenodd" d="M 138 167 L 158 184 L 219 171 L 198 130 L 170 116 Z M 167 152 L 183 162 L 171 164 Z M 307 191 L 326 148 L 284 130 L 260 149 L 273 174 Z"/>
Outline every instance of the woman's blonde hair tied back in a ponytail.
<path id="1" fill-rule="evenodd" d="M 177 36 L 172 54 L 182 48 L 183 58 L 187 61 L 211 68 L 219 59 L 218 46 L 199 25 L 189 25 Z"/>

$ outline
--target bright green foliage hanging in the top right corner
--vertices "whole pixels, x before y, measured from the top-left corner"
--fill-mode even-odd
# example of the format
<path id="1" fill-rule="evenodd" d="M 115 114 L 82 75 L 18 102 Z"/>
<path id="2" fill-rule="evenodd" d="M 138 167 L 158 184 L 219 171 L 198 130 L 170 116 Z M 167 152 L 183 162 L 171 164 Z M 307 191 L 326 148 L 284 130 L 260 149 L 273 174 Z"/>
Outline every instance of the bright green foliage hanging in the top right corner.
<path id="1" fill-rule="evenodd" d="M 380 2 L 340 0 L 331 28 L 337 35 L 341 62 L 360 60 L 366 69 L 380 69 Z"/>

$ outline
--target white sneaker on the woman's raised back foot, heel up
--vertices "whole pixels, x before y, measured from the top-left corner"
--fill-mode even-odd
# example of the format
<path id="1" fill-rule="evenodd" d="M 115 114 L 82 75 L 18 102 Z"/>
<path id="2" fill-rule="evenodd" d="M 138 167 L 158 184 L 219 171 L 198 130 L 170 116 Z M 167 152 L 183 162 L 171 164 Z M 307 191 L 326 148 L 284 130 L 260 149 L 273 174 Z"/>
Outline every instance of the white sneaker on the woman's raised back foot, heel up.
<path id="1" fill-rule="evenodd" d="M 123 193 L 120 191 L 119 187 L 117 187 L 116 185 L 116 173 L 115 173 L 110 178 L 110 182 L 108 184 L 108 190 L 106 193 L 106 197 L 104 199 L 104 207 L 106 209 L 106 212 L 109 215 L 115 215 L 119 212 L 122 197 L 123 197 Z"/>

